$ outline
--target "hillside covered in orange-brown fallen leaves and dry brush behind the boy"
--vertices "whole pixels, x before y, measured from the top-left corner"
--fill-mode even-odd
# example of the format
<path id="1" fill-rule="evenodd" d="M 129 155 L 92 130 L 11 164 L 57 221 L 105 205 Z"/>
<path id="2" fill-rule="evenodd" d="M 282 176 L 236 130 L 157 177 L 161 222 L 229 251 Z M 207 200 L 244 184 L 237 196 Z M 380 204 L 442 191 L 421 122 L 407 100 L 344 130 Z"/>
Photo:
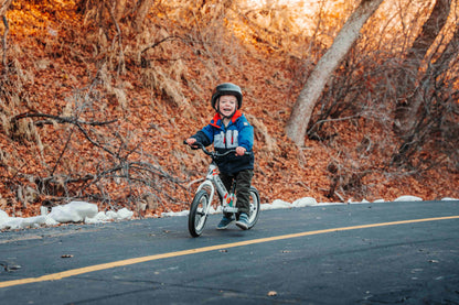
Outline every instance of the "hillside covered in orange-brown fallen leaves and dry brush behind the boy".
<path id="1" fill-rule="evenodd" d="M 384 0 L 297 150 L 285 133 L 292 106 L 361 0 L 14 0 L 0 22 L 0 209 L 36 215 L 71 196 L 142 216 L 182 209 L 205 160 L 181 139 L 206 122 L 223 81 L 244 90 L 264 201 L 455 196 L 458 1 L 426 58 L 408 62 L 440 2 Z M 409 99 L 440 123 L 419 121 L 427 141 L 402 167 L 393 118 Z"/>

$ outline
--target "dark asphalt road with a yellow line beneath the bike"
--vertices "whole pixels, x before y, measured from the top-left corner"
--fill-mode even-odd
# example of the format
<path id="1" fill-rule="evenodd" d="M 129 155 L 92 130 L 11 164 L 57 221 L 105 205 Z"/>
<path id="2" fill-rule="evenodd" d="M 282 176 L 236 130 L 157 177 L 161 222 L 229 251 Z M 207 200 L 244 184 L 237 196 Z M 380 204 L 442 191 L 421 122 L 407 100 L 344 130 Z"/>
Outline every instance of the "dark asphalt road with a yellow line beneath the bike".
<path id="1" fill-rule="evenodd" d="M 0 304 L 459 304 L 459 201 L 0 232 Z"/>

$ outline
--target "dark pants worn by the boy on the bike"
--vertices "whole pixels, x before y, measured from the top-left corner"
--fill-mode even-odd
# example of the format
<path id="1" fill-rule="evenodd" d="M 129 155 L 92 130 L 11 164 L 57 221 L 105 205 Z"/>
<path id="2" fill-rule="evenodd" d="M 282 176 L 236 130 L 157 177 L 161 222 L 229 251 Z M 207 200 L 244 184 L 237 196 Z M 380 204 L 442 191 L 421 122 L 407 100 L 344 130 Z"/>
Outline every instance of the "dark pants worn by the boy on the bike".
<path id="1" fill-rule="evenodd" d="M 247 215 L 250 208 L 250 183 L 253 176 L 253 170 L 244 170 L 234 175 L 226 175 L 220 173 L 220 178 L 222 179 L 223 184 L 225 185 L 228 192 L 232 190 L 233 182 L 236 183 L 236 206 L 239 209 L 239 213 L 245 213 Z"/>

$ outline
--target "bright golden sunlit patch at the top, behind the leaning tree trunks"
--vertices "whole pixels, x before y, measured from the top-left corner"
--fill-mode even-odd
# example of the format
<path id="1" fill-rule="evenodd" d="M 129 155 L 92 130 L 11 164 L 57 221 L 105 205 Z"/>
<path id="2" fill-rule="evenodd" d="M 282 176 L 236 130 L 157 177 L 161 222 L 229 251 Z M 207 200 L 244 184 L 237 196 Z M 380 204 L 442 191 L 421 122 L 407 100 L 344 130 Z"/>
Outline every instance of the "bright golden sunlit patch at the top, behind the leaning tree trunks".
<path id="1" fill-rule="evenodd" d="M 334 36 L 342 28 L 346 19 L 351 15 L 360 1 L 339 0 L 247 0 L 242 1 L 247 7 L 247 11 L 256 11 L 253 14 L 254 22 L 275 31 L 276 29 L 285 31 L 290 36 L 313 37 L 317 42 L 324 46 L 330 46 Z M 447 26 L 445 26 L 447 41 L 451 39 L 455 24 L 458 22 L 459 6 L 457 0 L 452 0 L 453 8 L 448 18 Z M 386 0 L 374 17 L 362 29 L 362 32 L 369 32 L 369 41 L 374 47 L 387 46 L 393 47 L 393 41 L 406 40 L 414 37 L 420 31 L 421 24 L 427 20 L 429 12 L 433 10 L 435 1 L 413 0 L 401 2 L 398 0 Z M 243 4 L 242 4 L 243 6 Z M 243 6 L 244 7 L 244 6 Z M 373 20 L 373 22 L 372 22 Z M 409 29 L 416 32 L 405 32 Z M 241 31 L 244 31 L 241 29 Z M 380 32 L 374 35 L 370 32 Z M 448 32 L 449 31 L 449 32 Z M 245 36 L 247 33 L 241 34 Z M 382 43 L 382 40 L 384 42 Z M 286 41 L 286 40 L 285 40 Z M 289 41 L 291 42 L 291 41 Z M 445 43 L 445 41 L 442 41 Z M 406 41 L 398 44 L 403 46 Z M 288 45 L 292 53 L 298 46 Z"/>

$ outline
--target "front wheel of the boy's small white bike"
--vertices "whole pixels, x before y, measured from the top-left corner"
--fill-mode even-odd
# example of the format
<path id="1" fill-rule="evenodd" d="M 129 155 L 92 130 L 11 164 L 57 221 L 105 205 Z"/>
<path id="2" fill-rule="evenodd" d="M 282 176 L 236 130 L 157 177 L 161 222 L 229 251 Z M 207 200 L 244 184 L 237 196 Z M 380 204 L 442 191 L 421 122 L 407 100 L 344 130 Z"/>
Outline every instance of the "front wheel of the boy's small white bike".
<path id="1" fill-rule="evenodd" d="M 209 205 L 209 194 L 206 190 L 201 189 L 194 195 L 188 218 L 188 230 L 192 237 L 201 236 L 204 230 L 205 221 L 207 220 L 205 211 Z"/>

